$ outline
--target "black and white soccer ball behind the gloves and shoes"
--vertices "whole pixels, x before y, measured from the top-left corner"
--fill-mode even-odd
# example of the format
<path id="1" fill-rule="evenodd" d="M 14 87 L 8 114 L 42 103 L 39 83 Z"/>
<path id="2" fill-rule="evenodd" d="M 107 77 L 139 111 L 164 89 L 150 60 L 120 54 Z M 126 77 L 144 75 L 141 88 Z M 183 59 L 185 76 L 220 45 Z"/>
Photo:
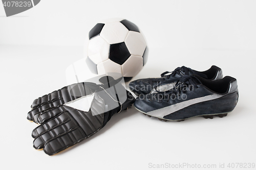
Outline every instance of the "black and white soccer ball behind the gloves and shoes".
<path id="1" fill-rule="evenodd" d="M 129 81 L 146 64 L 147 56 L 145 38 L 129 20 L 99 22 L 89 32 L 86 62 L 94 74 L 118 72 Z"/>

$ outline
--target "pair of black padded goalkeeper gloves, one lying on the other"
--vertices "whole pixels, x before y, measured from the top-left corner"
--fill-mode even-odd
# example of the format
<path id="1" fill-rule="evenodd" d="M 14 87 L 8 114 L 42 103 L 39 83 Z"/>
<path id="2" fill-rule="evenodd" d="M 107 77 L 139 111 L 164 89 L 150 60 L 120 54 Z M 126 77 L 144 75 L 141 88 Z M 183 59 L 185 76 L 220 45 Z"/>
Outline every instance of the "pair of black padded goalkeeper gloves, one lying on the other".
<path id="1" fill-rule="evenodd" d="M 110 76 L 99 81 L 102 85 L 84 82 L 66 86 L 33 102 L 28 119 L 41 124 L 32 132 L 35 149 L 44 149 L 48 155 L 65 150 L 98 132 L 115 113 L 133 104 L 133 95 L 120 81 Z M 89 111 L 65 105 L 91 94 Z"/>

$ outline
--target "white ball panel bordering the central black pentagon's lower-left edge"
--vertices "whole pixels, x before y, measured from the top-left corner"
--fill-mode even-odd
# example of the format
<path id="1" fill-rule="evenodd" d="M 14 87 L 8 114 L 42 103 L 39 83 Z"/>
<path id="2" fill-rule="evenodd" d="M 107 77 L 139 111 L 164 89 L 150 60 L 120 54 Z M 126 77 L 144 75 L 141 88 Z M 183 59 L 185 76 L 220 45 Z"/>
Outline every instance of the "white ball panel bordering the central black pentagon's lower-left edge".
<path id="1" fill-rule="evenodd" d="M 122 67 L 121 65 L 115 63 L 114 61 L 108 59 L 106 61 L 103 61 L 97 65 L 98 74 L 103 75 L 108 72 L 118 72 L 122 74 Z"/>

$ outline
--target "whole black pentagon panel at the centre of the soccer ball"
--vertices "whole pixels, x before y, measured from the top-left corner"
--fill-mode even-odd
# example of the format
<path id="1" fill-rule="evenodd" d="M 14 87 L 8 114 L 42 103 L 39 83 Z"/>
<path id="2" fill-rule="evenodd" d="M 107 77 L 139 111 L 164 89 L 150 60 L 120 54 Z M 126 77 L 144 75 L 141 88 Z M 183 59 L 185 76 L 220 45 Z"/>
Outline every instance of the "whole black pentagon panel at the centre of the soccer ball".
<path id="1" fill-rule="evenodd" d="M 131 56 L 124 42 L 111 44 L 109 59 L 122 65 Z"/>

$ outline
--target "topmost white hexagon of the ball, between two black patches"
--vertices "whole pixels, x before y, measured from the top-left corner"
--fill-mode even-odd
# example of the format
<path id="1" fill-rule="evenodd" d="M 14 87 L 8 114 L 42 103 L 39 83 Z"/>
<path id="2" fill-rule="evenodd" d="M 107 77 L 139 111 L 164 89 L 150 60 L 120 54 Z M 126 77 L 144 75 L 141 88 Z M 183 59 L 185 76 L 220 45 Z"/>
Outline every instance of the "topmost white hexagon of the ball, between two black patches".
<path id="1" fill-rule="evenodd" d="M 109 44 L 123 42 L 129 30 L 121 22 L 105 23 L 100 36 Z"/>

